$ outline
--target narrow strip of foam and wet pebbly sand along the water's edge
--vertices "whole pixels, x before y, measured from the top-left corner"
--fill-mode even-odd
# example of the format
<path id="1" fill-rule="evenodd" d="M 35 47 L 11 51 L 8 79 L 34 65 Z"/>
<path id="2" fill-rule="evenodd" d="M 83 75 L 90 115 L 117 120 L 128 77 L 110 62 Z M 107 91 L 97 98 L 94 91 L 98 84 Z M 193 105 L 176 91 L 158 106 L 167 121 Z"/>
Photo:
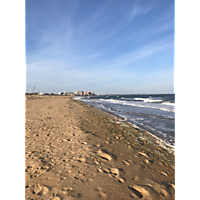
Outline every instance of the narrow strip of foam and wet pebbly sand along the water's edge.
<path id="1" fill-rule="evenodd" d="M 76 98 L 76 97 L 75 97 L 75 98 Z M 97 108 L 97 107 L 95 107 L 95 106 L 92 106 L 92 105 L 90 105 L 90 104 L 87 104 L 87 103 L 81 101 L 80 99 L 74 99 L 74 97 L 71 97 L 71 99 L 72 99 L 72 100 L 76 100 L 76 101 L 80 101 L 80 102 L 82 102 L 82 103 L 84 103 L 84 104 L 86 104 L 86 105 L 88 105 L 88 106 L 91 106 L 91 107 L 93 107 L 93 108 L 99 109 L 99 110 L 101 110 L 101 111 L 103 111 L 103 112 L 105 112 L 105 113 L 110 114 L 112 117 L 114 117 L 114 118 L 117 120 L 115 123 L 121 123 L 121 122 L 123 122 L 123 123 L 125 123 L 127 126 L 129 126 L 129 127 L 132 127 L 132 128 L 134 128 L 134 129 L 136 129 L 136 130 L 141 131 L 141 133 L 144 133 L 144 132 L 145 132 L 145 133 L 148 133 L 148 134 L 149 134 L 149 138 L 148 138 L 148 137 L 144 137 L 145 140 L 150 140 L 150 142 L 155 143 L 155 145 L 158 145 L 159 147 L 162 147 L 162 148 L 164 148 L 164 149 L 167 149 L 167 150 L 169 151 L 169 153 L 175 155 L 175 145 L 171 145 L 171 144 L 167 143 L 167 142 L 164 141 L 162 138 L 159 138 L 158 136 L 154 135 L 153 133 L 147 131 L 146 129 L 140 128 L 140 127 L 138 127 L 136 124 L 133 124 L 133 123 L 131 123 L 131 122 L 129 122 L 129 121 L 124 120 L 123 117 L 118 116 L 117 114 L 114 114 L 114 113 L 109 112 L 109 111 L 107 111 L 107 110 L 103 110 L 103 109 L 101 109 L 101 108 Z M 152 139 L 152 137 L 153 137 L 153 139 Z"/>

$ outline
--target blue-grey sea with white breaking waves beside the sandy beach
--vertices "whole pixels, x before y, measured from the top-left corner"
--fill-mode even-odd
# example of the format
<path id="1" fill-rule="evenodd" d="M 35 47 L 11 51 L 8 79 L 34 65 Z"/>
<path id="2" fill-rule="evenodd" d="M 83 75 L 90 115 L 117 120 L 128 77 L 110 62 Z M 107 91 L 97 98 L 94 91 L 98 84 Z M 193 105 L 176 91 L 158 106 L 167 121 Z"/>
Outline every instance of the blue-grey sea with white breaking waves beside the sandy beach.
<path id="1" fill-rule="evenodd" d="M 175 94 L 98 95 L 74 99 L 118 115 L 175 146 Z"/>

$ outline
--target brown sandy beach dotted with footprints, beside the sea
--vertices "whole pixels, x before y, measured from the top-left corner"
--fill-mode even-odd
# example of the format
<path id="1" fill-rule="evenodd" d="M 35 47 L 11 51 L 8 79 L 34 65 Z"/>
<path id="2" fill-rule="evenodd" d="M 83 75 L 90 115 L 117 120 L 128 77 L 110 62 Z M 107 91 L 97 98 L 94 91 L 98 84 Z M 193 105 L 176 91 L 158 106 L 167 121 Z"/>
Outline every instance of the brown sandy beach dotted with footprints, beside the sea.
<path id="1" fill-rule="evenodd" d="M 26 96 L 25 199 L 175 199 L 175 156 L 65 96 Z"/>

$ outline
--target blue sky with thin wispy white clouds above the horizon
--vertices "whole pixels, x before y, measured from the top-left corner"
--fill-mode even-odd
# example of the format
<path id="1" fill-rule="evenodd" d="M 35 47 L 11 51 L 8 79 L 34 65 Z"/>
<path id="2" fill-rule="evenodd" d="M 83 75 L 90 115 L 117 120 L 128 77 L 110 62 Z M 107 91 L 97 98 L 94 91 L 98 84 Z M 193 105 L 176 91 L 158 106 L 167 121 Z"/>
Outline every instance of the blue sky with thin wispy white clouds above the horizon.
<path id="1" fill-rule="evenodd" d="M 174 0 L 26 0 L 25 91 L 174 93 Z"/>

